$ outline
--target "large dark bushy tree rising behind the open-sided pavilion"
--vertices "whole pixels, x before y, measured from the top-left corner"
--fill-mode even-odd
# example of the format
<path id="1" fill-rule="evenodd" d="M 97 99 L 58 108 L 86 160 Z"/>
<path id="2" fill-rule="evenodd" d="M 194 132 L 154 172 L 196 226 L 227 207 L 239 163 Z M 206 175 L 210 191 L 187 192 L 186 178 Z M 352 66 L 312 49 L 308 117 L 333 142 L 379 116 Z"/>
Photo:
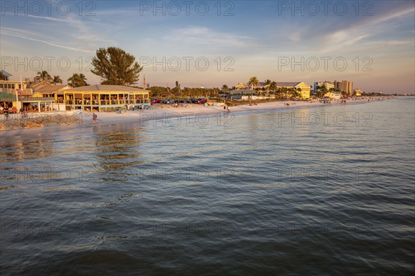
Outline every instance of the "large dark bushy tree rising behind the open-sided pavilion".
<path id="1" fill-rule="evenodd" d="M 136 57 L 117 47 L 99 48 L 91 64 L 91 72 L 101 77 L 101 84 L 136 84 L 142 71 Z"/>

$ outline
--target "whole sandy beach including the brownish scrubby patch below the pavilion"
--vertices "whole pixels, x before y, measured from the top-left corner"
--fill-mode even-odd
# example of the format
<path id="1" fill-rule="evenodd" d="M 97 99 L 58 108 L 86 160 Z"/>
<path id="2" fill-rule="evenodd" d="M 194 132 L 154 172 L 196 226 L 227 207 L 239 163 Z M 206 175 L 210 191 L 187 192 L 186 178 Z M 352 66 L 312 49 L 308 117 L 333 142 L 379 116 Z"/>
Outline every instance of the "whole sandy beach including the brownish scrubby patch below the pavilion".
<path id="1" fill-rule="evenodd" d="M 356 100 L 346 100 L 340 103 L 338 100 L 332 100 L 331 104 L 324 104 L 322 102 L 304 102 L 304 101 L 279 101 L 279 102 L 262 102 L 255 105 L 241 104 L 230 107 L 230 113 L 241 113 L 261 110 L 276 110 L 288 111 L 294 108 L 301 107 L 324 107 L 329 105 L 339 104 L 362 104 L 376 100 L 388 100 L 390 97 L 365 97 Z M 287 105 L 289 104 L 289 105 Z M 36 114 L 36 113 L 35 113 Z M 36 114 L 39 117 L 33 120 L 40 122 L 38 124 L 31 124 L 29 127 L 23 127 L 19 119 L 4 120 L 2 118 L 0 124 L 0 137 L 11 138 L 13 136 L 23 136 L 27 134 L 39 133 L 53 133 L 55 131 L 64 131 L 68 129 L 77 129 L 82 132 L 82 129 L 90 129 L 95 127 L 111 127 L 113 125 L 124 125 L 131 123 L 138 123 L 144 126 L 145 122 L 151 120 L 174 120 L 175 118 L 194 117 L 194 116 L 216 116 L 218 114 L 225 114 L 223 107 L 205 107 L 203 105 L 193 105 L 192 107 L 178 107 L 163 105 L 156 109 L 148 109 L 144 111 L 127 111 L 126 113 L 103 112 L 98 114 L 98 121 L 93 122 L 91 112 L 76 113 L 73 111 L 53 113 L 45 113 L 42 118 L 42 113 Z M 60 118 L 57 120 L 57 116 Z M 41 120 L 42 119 L 42 120 Z M 13 122 L 13 120 L 17 120 Z M 9 125 L 8 125 L 9 124 Z M 19 125 L 20 124 L 20 125 Z M 43 125 L 42 125 L 43 124 Z"/>

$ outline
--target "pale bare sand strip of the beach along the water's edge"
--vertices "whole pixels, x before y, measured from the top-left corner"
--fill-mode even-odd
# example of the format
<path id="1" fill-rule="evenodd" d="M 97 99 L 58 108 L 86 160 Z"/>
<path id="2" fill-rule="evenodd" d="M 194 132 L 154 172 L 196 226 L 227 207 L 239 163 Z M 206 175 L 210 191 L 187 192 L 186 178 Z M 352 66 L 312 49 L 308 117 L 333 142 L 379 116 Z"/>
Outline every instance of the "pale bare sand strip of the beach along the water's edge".
<path id="1" fill-rule="evenodd" d="M 371 101 L 378 100 L 387 100 L 388 98 L 370 98 Z M 285 104 L 289 103 L 289 106 Z M 365 100 L 347 100 L 345 103 L 333 102 L 331 104 L 323 104 L 318 101 L 315 102 L 295 102 L 295 101 L 286 101 L 286 102 L 263 102 L 257 105 L 249 106 L 247 104 L 237 105 L 230 107 L 230 113 L 246 113 L 251 111 L 265 111 L 265 110 L 275 110 L 275 111 L 284 111 L 298 109 L 302 107 L 326 107 L 333 105 L 344 105 L 344 104 L 363 104 L 368 103 L 367 98 Z M 73 113 L 72 111 L 68 111 Z M 98 122 L 94 123 L 92 121 L 92 113 L 84 112 L 80 114 L 80 122 L 76 122 L 71 125 L 53 125 L 53 126 L 44 126 L 44 127 L 24 127 L 19 129 L 10 129 L 10 130 L 0 130 L 0 138 L 10 138 L 14 136 L 23 136 L 23 135 L 34 135 L 34 134 L 45 134 L 57 131 L 66 131 L 66 130 L 82 130 L 82 129 L 92 129 L 95 127 L 111 127 L 114 125 L 127 125 L 131 123 L 139 123 L 140 127 L 145 127 L 145 124 L 149 121 L 157 120 L 176 120 L 178 118 L 194 118 L 196 116 L 216 116 L 219 114 L 227 114 L 223 107 L 205 107 L 203 105 L 192 106 L 192 107 L 166 107 L 156 108 L 156 109 L 147 109 L 142 111 L 127 111 L 126 113 L 97 113 Z M 163 123 L 164 124 L 164 123 Z M 174 124 L 173 124 L 174 125 Z M 81 131 L 82 132 L 82 131 Z"/>

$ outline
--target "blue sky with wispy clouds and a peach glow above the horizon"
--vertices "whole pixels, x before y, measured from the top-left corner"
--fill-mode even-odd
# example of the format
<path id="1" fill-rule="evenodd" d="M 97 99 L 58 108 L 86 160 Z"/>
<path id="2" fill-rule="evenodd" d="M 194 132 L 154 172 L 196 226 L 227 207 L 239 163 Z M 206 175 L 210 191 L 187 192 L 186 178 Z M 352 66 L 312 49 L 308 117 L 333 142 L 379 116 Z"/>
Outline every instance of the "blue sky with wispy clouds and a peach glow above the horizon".
<path id="1" fill-rule="evenodd" d="M 415 91 L 415 1 L 1 1 L 1 69 L 91 73 L 98 48 L 136 57 L 151 86 L 349 80 Z"/>

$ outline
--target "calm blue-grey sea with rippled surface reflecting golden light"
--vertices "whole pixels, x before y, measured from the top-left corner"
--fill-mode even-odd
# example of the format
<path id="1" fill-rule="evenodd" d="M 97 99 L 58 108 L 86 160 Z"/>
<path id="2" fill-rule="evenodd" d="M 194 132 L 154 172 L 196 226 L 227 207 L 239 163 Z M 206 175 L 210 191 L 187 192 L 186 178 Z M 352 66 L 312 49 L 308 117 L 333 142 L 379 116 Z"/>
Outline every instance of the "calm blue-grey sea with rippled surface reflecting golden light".
<path id="1" fill-rule="evenodd" d="M 414 275 L 415 99 L 1 138 L 1 275 Z"/>

